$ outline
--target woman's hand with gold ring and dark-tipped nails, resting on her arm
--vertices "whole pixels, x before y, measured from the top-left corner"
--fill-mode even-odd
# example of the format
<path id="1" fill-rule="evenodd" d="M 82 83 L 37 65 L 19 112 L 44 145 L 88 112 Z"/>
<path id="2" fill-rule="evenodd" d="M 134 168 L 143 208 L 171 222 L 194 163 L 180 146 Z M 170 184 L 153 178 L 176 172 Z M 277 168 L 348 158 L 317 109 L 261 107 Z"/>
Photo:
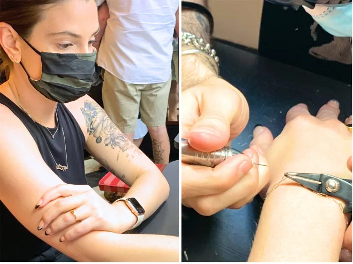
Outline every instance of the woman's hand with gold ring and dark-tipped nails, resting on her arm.
<path id="1" fill-rule="evenodd" d="M 53 200 L 57 202 L 46 208 Z M 66 232 L 61 242 L 74 240 L 92 230 L 123 233 L 136 223 L 136 217 L 125 202 L 111 205 L 88 185 L 60 184 L 41 197 L 36 209 L 47 209 L 38 225 L 38 230 L 45 230 L 47 236 L 81 222 Z"/>

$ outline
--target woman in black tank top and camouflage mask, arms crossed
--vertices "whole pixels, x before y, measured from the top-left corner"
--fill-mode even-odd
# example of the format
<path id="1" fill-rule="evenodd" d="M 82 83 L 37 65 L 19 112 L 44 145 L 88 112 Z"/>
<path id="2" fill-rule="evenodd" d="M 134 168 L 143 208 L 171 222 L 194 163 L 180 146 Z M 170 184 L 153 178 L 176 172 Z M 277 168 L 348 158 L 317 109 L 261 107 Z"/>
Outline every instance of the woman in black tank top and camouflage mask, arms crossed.
<path id="1" fill-rule="evenodd" d="M 0 0 L 0 260 L 178 261 L 178 238 L 120 234 L 169 186 L 86 95 L 99 76 L 95 1 L 19 2 Z M 85 147 L 131 186 L 128 201 L 86 185 Z"/>

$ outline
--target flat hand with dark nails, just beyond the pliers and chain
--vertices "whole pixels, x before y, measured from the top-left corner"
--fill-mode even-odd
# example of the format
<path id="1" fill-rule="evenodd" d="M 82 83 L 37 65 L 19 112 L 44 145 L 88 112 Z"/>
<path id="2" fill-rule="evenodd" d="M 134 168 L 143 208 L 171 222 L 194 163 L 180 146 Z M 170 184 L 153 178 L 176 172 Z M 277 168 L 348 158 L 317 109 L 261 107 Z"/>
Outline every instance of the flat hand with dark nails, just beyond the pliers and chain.
<path id="1" fill-rule="evenodd" d="M 351 132 L 337 120 L 338 114 L 339 104 L 334 100 L 323 105 L 316 117 L 310 115 L 305 104 L 298 104 L 288 111 L 286 125 L 273 142 L 267 128 L 255 128 L 250 145 L 257 144 L 266 153 L 270 185 L 277 183 L 284 172 L 326 173 L 351 179 L 346 166 L 351 156 Z"/>

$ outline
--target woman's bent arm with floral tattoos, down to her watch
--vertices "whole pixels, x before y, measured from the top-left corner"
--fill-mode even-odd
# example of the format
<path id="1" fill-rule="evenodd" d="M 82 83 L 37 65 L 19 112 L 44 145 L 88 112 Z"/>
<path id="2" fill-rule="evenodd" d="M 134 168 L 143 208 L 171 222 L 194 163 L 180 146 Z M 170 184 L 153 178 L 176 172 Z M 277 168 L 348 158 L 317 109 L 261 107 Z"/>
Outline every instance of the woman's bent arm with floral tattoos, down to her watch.
<path id="1" fill-rule="evenodd" d="M 81 102 L 88 133 L 87 150 L 107 170 L 131 186 L 126 197 L 135 197 L 141 203 L 146 211 L 144 220 L 147 219 L 168 197 L 169 185 L 166 179 L 92 98 L 85 96 Z M 114 205 L 126 207 L 123 201 Z M 131 212 L 129 214 L 132 215 Z M 133 216 L 132 220 L 131 226 L 136 223 L 136 217 Z"/>

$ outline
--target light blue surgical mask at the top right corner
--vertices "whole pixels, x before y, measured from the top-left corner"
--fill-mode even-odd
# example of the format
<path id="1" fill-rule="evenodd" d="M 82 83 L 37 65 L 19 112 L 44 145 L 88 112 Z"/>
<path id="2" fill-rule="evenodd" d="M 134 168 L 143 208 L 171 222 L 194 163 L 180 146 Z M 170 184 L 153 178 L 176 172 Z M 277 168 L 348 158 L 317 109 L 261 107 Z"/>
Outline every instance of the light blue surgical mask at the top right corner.
<path id="1" fill-rule="evenodd" d="M 352 36 L 352 4 L 328 7 L 326 11 L 312 18 L 328 33 L 334 36 Z"/>

